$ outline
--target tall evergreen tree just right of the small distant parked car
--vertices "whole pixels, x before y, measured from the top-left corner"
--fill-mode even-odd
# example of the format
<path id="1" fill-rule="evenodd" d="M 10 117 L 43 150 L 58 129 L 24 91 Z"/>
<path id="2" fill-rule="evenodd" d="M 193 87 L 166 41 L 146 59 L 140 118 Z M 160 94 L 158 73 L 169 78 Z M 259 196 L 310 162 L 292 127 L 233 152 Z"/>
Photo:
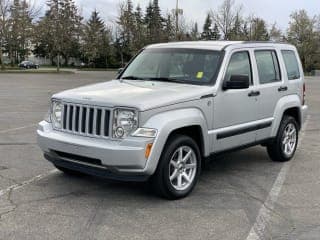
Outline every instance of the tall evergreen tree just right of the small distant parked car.
<path id="1" fill-rule="evenodd" d="M 73 0 L 48 0 L 48 10 L 36 26 L 35 53 L 56 58 L 57 71 L 60 56 L 68 65 L 71 57 L 80 57 L 82 17 Z"/>

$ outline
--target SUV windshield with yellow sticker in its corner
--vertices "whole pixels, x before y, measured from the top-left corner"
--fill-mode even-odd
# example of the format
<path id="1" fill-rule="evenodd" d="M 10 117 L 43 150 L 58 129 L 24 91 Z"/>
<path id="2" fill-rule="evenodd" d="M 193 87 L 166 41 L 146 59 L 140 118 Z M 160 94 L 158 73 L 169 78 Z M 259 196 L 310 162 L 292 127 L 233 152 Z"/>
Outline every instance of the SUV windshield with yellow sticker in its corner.
<path id="1" fill-rule="evenodd" d="M 214 84 L 221 51 L 200 49 L 146 49 L 122 73 L 121 79 Z"/>

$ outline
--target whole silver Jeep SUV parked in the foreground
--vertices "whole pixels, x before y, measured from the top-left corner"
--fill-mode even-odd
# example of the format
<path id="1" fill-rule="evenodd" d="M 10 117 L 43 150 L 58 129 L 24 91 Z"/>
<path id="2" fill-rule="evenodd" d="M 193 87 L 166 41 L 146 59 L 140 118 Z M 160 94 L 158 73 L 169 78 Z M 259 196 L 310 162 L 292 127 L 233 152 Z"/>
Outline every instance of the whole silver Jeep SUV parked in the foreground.
<path id="1" fill-rule="evenodd" d="M 150 180 L 177 199 L 217 153 L 262 144 L 272 160 L 290 160 L 306 111 L 291 45 L 157 44 L 116 80 L 55 94 L 38 143 L 65 173 Z"/>

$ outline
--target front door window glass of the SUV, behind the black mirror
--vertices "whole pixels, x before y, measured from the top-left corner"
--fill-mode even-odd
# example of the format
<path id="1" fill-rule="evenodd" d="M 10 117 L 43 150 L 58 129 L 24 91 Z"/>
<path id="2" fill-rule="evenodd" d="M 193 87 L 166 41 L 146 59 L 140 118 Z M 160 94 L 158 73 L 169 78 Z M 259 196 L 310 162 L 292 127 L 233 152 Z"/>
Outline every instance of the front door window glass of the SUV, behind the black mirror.
<path id="1" fill-rule="evenodd" d="M 231 56 L 224 81 L 230 81 L 232 75 L 248 76 L 252 85 L 252 71 L 249 52 L 236 52 Z"/>

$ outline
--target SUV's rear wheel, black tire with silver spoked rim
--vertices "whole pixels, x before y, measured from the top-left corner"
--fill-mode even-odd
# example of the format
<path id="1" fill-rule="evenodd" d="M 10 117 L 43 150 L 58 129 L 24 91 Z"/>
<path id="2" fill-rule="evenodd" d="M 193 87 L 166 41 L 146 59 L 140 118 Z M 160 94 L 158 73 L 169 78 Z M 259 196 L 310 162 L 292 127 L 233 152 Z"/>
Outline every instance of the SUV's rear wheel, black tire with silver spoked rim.
<path id="1" fill-rule="evenodd" d="M 269 157 L 276 162 L 290 161 L 297 149 L 299 128 L 297 121 L 285 115 L 280 123 L 277 136 L 267 145 Z"/>

